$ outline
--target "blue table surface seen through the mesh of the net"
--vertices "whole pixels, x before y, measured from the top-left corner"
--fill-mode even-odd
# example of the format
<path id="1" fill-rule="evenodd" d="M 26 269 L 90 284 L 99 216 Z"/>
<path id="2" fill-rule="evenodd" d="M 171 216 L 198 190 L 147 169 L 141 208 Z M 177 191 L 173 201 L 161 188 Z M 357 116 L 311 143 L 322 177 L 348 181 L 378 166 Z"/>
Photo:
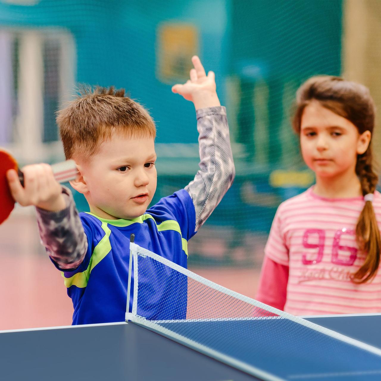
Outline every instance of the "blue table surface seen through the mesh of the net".
<path id="1" fill-rule="evenodd" d="M 244 362 L 252 367 L 254 375 L 258 375 L 256 369 L 260 368 L 282 379 L 313 381 L 332 373 L 337 377 L 338 373 L 348 372 L 360 376 L 366 371 L 369 377 L 370 371 L 374 379 L 381 379 L 379 354 L 288 319 L 206 320 L 159 325 L 231 357 L 233 364 L 235 360 Z"/>

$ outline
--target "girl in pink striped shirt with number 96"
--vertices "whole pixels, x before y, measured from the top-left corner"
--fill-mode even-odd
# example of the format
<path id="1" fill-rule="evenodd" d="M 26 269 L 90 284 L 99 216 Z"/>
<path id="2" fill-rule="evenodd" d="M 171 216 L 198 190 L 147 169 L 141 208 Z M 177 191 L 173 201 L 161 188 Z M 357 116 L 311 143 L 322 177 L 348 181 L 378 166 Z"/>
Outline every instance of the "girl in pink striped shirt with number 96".
<path id="1" fill-rule="evenodd" d="M 259 301 L 294 315 L 381 312 L 374 123 L 365 86 L 321 76 L 299 88 L 293 128 L 316 183 L 277 210 Z"/>

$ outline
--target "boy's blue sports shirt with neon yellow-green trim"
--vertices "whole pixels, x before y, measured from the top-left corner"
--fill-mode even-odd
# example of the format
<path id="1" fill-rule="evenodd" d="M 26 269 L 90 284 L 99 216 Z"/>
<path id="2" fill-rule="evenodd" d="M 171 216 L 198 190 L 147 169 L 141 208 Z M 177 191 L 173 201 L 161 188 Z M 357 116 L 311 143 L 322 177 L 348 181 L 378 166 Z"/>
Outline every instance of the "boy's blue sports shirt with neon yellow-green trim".
<path id="1" fill-rule="evenodd" d="M 195 234 L 195 208 L 189 193 L 181 189 L 162 198 L 146 213 L 133 220 L 103 219 L 91 213 L 80 213 L 88 240 L 82 264 L 74 271 L 64 271 L 67 294 L 74 306 L 73 324 L 122 322 L 125 320 L 130 234 L 135 243 L 154 253 L 187 267 L 187 241 Z M 90 276 L 91 274 L 91 276 Z M 152 275 L 154 276 L 154 274 Z M 158 283 L 153 309 L 147 311 L 154 319 L 184 319 L 186 313 L 186 279 L 171 284 Z M 171 300 L 177 293 L 176 310 L 164 308 L 163 298 L 170 289 Z M 166 292 L 165 292 L 166 291 Z M 132 306 L 133 282 L 131 282 Z M 160 303 L 158 303 L 160 301 Z M 161 306 L 160 311 L 157 311 Z"/>

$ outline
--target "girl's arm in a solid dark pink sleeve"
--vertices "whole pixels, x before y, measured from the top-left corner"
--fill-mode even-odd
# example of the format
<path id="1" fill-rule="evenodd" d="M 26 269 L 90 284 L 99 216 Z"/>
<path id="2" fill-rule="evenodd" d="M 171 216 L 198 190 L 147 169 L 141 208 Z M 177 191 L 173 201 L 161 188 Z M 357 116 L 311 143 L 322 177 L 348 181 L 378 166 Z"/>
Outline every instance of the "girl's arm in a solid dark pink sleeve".
<path id="1" fill-rule="evenodd" d="M 288 266 L 264 257 L 256 299 L 283 310 L 286 303 Z"/>

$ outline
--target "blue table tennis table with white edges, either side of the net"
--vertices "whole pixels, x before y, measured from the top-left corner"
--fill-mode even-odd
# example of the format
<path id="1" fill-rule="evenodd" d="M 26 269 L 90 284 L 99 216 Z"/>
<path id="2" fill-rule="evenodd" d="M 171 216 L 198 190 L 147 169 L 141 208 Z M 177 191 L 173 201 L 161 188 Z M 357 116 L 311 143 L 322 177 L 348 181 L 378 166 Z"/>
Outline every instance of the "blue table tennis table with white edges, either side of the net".
<path id="1" fill-rule="evenodd" d="M 305 319 L 381 348 L 381 314 Z M 0 353 L 7 381 L 259 379 L 132 322 L 0 331 Z M 381 372 L 344 379 L 381 379 Z"/>

